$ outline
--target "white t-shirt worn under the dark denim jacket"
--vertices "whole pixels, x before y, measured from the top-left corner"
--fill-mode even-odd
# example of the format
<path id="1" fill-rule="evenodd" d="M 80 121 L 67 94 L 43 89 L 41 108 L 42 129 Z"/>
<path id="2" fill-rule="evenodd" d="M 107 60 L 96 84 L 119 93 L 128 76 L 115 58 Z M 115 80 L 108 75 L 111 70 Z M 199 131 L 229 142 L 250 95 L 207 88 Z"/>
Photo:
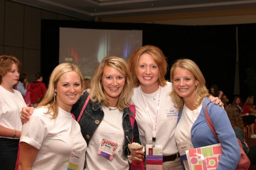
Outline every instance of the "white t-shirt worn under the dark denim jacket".
<path id="1" fill-rule="evenodd" d="M 86 152 L 86 170 L 128 170 L 128 159 L 123 156 L 123 112 L 118 109 L 109 111 L 106 107 L 102 107 L 102 110 L 104 118 L 94 132 Z M 112 161 L 97 153 L 102 139 L 108 139 L 118 145 Z"/>

